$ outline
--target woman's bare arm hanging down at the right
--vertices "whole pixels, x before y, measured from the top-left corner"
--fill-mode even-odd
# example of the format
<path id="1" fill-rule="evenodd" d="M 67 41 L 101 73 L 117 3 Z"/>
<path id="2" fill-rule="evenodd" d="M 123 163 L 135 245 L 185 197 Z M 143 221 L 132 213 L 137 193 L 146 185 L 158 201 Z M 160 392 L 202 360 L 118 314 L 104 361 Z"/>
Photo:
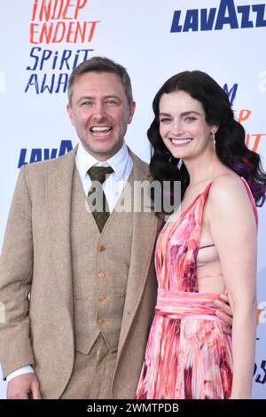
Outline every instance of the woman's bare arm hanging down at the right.
<path id="1" fill-rule="evenodd" d="M 210 231 L 233 311 L 231 398 L 250 398 L 256 331 L 256 224 L 245 185 L 220 177 L 208 198 Z"/>

